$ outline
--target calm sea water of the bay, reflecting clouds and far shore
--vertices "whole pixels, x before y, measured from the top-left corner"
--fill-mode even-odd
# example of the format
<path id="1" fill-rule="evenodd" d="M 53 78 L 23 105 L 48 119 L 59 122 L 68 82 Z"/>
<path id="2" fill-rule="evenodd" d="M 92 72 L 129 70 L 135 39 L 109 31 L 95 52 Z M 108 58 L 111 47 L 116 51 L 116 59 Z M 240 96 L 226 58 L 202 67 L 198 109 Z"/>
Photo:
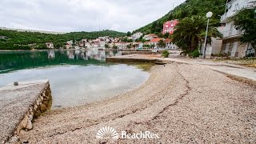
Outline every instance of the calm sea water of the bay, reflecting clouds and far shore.
<path id="1" fill-rule="evenodd" d="M 114 97 L 146 82 L 142 65 L 106 63 L 118 51 L 58 50 L 0 52 L 0 86 L 49 79 L 53 108 Z"/>

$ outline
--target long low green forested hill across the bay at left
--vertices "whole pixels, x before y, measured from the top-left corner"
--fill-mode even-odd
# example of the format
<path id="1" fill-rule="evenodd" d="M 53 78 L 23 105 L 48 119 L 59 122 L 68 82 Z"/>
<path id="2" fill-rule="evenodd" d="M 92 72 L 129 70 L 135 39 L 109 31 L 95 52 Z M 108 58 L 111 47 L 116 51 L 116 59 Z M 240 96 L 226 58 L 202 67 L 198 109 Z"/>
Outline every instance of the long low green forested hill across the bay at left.
<path id="1" fill-rule="evenodd" d="M 116 38 L 124 35 L 126 34 L 113 30 L 72 32 L 66 34 L 43 34 L 38 32 L 20 32 L 0 29 L 0 50 L 31 50 L 32 48 L 44 49 L 46 42 L 53 42 L 54 46 L 61 47 L 64 42 L 69 40 L 79 41 L 82 38 L 93 39 L 103 36 Z"/>

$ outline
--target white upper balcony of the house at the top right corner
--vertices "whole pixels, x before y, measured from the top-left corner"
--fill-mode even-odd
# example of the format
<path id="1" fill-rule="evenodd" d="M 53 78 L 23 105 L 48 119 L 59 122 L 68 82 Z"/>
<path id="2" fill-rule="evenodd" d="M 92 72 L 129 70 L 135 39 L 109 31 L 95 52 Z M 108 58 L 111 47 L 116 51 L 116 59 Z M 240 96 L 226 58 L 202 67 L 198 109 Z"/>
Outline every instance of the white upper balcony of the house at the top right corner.
<path id="1" fill-rule="evenodd" d="M 256 0 L 233 0 L 227 4 L 227 12 L 222 15 L 221 22 L 228 21 L 242 9 L 252 9 L 256 6 Z"/>

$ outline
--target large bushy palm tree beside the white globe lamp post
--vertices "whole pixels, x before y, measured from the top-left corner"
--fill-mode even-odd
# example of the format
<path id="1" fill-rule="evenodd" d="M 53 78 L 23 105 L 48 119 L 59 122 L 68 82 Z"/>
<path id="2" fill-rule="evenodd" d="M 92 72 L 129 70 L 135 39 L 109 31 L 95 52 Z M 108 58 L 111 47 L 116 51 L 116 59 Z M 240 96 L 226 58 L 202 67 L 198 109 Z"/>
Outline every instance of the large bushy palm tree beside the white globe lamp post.
<path id="1" fill-rule="evenodd" d="M 181 47 L 187 53 L 193 52 L 197 49 L 198 44 L 202 42 L 202 34 L 206 34 L 207 18 L 204 16 L 192 16 L 191 18 L 184 18 L 175 26 L 172 40 L 174 44 Z M 212 24 L 209 26 L 208 37 L 217 38 L 221 36 Z M 208 38 L 207 38 L 208 39 Z"/>

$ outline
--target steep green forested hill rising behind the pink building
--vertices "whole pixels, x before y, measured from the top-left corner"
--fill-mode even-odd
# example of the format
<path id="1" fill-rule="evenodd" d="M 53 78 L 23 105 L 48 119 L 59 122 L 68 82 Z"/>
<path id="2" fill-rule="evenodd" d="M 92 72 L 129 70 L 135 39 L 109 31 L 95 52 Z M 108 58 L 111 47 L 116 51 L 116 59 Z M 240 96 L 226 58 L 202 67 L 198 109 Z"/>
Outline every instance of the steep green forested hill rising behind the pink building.
<path id="1" fill-rule="evenodd" d="M 159 34 L 162 30 L 162 24 L 168 20 L 182 19 L 192 15 L 206 15 L 209 11 L 214 13 L 213 19 L 219 22 L 220 15 L 224 14 L 225 6 L 226 0 L 186 0 L 186 2 L 175 7 L 174 10 L 171 10 L 162 18 L 138 30 L 134 30 L 134 32 L 140 31 L 144 34 Z"/>

